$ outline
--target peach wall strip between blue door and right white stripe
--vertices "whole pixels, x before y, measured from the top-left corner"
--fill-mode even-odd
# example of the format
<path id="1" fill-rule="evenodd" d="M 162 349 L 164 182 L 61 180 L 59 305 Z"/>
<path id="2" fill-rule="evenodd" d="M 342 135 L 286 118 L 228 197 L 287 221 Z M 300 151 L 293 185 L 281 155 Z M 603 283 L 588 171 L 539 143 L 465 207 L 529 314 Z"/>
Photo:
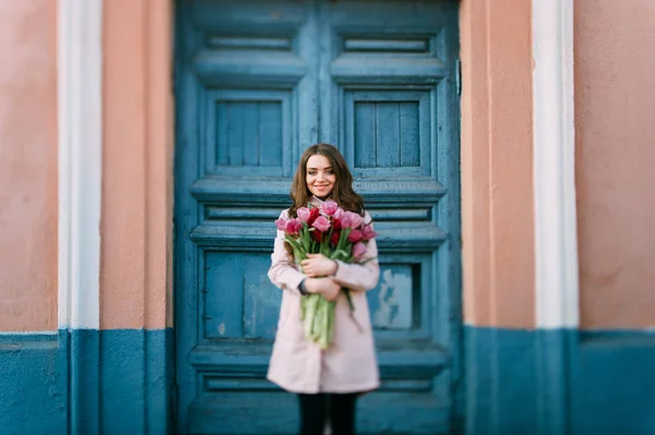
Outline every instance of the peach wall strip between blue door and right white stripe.
<path id="1" fill-rule="evenodd" d="M 461 8 L 464 319 L 533 328 L 531 2 Z"/>

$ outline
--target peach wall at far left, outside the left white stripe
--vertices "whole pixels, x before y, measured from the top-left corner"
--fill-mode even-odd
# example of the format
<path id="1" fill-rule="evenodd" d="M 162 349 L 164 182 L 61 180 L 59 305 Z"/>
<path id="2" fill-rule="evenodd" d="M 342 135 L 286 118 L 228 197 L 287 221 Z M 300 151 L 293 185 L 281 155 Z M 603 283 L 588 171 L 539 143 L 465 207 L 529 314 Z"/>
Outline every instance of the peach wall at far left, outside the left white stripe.
<path id="1" fill-rule="evenodd" d="M 57 329 L 57 15 L 0 1 L 0 330 Z"/>

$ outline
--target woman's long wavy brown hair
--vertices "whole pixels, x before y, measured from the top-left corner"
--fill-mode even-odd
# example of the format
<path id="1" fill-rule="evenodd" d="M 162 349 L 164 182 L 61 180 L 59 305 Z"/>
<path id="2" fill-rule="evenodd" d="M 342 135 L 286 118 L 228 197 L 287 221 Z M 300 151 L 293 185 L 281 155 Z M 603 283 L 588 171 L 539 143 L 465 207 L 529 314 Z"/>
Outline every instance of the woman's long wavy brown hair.
<path id="1" fill-rule="evenodd" d="M 307 202 L 311 196 L 307 188 L 307 160 L 315 155 L 327 158 L 332 165 L 332 170 L 336 179 L 331 194 L 332 200 L 344 210 L 364 216 L 364 198 L 353 190 L 353 174 L 348 169 L 346 160 L 335 146 L 321 143 L 308 147 L 300 157 L 298 169 L 296 169 L 296 176 L 291 183 L 290 196 L 294 205 L 289 208 L 289 217 L 295 218 L 298 208 L 307 207 Z"/>

